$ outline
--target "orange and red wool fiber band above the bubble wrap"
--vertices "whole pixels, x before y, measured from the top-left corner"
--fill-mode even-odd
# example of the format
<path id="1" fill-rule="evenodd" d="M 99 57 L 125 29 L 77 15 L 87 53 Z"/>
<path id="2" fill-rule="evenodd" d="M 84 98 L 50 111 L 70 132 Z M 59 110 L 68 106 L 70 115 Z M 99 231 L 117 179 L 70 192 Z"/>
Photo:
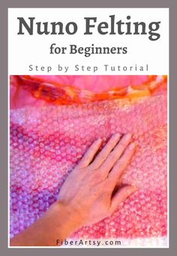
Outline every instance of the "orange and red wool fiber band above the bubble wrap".
<path id="1" fill-rule="evenodd" d="M 45 101 L 46 103 L 55 105 L 68 105 L 73 103 L 82 104 L 86 102 L 103 101 L 116 98 L 133 99 L 142 96 L 150 96 L 156 94 L 161 89 L 165 89 L 166 86 L 166 76 L 146 76 L 147 79 L 142 83 L 139 83 L 139 81 L 137 81 L 137 83 L 126 84 L 125 82 L 123 86 L 122 84 L 119 85 L 117 83 L 113 86 L 110 85 L 110 88 L 105 89 L 103 87 L 103 89 L 99 92 L 95 92 L 95 90 L 93 90 L 92 88 L 88 88 L 88 86 L 84 88 L 84 86 L 74 85 L 72 81 L 71 83 L 68 83 L 68 80 L 66 80 L 66 83 L 65 81 L 62 81 L 63 83 L 60 83 L 59 79 L 47 82 L 46 77 L 47 76 L 10 76 L 10 84 L 15 87 L 15 93 L 13 93 L 13 101 L 15 101 L 15 97 L 17 97 L 18 92 L 22 89 L 23 91 L 28 92 L 31 97 Z"/>

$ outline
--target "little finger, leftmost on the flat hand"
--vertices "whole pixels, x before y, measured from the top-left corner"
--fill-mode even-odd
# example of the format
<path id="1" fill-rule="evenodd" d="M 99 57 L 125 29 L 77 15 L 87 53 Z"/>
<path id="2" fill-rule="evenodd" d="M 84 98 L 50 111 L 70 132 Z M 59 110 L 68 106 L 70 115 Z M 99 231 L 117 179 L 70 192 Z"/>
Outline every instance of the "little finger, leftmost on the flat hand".
<path id="1" fill-rule="evenodd" d="M 83 156 L 82 160 L 80 161 L 80 163 L 77 165 L 77 167 L 79 168 L 84 168 L 87 167 L 93 160 L 93 158 L 95 157 L 95 154 L 98 152 L 98 149 L 101 146 L 101 139 L 95 140 L 94 143 L 92 143 L 92 145 L 89 147 L 89 149 L 87 150 L 86 154 Z"/>

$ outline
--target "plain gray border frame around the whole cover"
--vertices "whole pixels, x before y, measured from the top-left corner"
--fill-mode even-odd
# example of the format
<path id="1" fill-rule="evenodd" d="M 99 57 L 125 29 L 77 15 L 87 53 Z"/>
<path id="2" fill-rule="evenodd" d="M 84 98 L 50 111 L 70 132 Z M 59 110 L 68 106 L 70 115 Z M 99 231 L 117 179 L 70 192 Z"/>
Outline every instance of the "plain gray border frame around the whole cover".
<path id="1" fill-rule="evenodd" d="M 176 53 L 175 50 L 176 35 L 175 24 L 176 20 L 176 0 L 50 0 L 49 2 L 42 0 L 6 0 L 0 3 L 0 31 L 1 31 L 1 91 L 0 91 L 0 123 L 1 123 L 1 140 L 0 140 L 0 152 L 1 152 L 1 171 L 0 171 L 0 197 L 1 197 L 1 222 L 0 222 L 0 253 L 1 255 L 31 255 L 41 254 L 48 255 L 50 251 L 48 248 L 7 248 L 7 8 L 169 8 L 169 248 L 49 248 L 52 250 L 52 254 L 134 254 L 134 255 L 175 255 L 175 237 L 176 235 L 176 220 L 177 215 L 175 204 L 175 180 L 176 169 L 175 166 L 175 146 L 176 137 L 175 131 L 177 128 L 175 120 L 175 95 L 177 87 L 175 86 L 175 70 L 176 70 Z M 163 57 L 162 57 L 163 59 Z M 31 251 L 32 250 L 32 251 Z M 97 250 L 97 251 L 96 251 Z M 108 251 L 109 250 L 109 251 Z M 150 250 L 150 251 L 148 251 Z"/>

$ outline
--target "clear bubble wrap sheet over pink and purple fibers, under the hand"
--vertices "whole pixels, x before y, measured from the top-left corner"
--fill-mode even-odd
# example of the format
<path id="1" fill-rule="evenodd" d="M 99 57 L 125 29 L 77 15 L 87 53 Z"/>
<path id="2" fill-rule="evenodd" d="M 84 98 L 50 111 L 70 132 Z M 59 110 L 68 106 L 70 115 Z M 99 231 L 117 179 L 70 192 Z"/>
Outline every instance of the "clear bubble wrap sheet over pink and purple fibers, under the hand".
<path id="1" fill-rule="evenodd" d="M 121 179 L 138 189 L 110 218 L 71 238 L 166 236 L 166 95 L 158 95 L 10 110 L 10 237 L 55 202 L 92 142 L 101 137 L 105 143 L 115 132 L 132 133 L 138 145 Z"/>

